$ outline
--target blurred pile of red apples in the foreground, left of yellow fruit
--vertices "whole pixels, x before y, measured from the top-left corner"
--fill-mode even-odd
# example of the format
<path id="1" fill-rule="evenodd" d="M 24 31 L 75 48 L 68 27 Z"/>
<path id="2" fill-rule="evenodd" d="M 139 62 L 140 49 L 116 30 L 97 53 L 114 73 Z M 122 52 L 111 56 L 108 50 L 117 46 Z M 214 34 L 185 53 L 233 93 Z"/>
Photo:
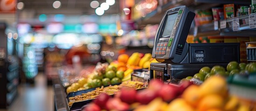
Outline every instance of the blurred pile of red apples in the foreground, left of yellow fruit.
<path id="1" fill-rule="evenodd" d="M 131 87 L 122 87 L 121 90 L 111 98 L 106 93 L 100 94 L 97 99 L 87 105 L 84 111 L 128 111 L 136 107 L 144 106 L 152 100 L 160 98 L 163 101 L 170 102 L 186 89 L 187 86 L 192 85 L 192 82 L 184 81 L 180 86 L 171 86 L 164 84 L 161 81 L 152 80 L 150 86 L 146 89 L 135 90 Z M 160 105 L 158 104 L 157 107 Z M 136 110 L 136 109 L 135 109 Z M 157 111 L 157 110 L 145 110 Z"/>

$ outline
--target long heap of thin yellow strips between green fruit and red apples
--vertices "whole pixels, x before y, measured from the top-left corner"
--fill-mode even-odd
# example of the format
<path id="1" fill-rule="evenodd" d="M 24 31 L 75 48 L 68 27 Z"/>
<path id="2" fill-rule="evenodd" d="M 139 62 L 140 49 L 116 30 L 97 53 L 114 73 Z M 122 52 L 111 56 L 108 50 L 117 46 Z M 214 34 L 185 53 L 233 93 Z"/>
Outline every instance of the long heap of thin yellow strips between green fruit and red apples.
<path id="1" fill-rule="evenodd" d="M 122 87 L 130 87 L 132 89 L 141 89 L 144 88 L 145 85 L 143 82 L 139 81 L 129 81 L 129 82 L 123 82 L 120 85 L 114 85 L 114 86 L 107 86 L 107 87 L 101 87 L 101 88 L 96 88 L 96 90 L 93 90 L 88 93 L 82 93 L 82 95 L 76 95 L 75 97 L 69 97 L 69 106 L 71 106 L 75 102 L 83 101 L 83 100 L 88 100 L 88 99 L 95 99 L 99 94 L 101 93 L 106 93 L 108 95 L 114 95 Z"/>

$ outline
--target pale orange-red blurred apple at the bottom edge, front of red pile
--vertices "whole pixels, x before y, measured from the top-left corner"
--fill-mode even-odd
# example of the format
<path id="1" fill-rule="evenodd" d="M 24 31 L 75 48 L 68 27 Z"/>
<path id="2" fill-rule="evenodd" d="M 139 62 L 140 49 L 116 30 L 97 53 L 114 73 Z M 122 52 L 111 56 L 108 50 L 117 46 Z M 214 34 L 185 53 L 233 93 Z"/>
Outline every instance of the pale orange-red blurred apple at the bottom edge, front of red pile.
<path id="1" fill-rule="evenodd" d="M 129 105 L 127 103 L 122 102 L 118 98 L 109 99 L 106 106 L 109 111 L 127 111 L 127 110 L 129 110 Z"/>

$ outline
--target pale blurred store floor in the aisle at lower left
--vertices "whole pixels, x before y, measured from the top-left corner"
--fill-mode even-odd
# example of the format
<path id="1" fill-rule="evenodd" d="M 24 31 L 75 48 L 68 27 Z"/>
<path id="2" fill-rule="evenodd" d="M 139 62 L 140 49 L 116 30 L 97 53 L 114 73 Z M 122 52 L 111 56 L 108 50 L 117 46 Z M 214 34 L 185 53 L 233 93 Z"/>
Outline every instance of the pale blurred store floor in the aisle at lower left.
<path id="1" fill-rule="evenodd" d="M 54 111 L 54 92 L 43 73 L 36 76 L 35 85 L 21 84 L 18 93 L 12 105 L 0 111 Z"/>

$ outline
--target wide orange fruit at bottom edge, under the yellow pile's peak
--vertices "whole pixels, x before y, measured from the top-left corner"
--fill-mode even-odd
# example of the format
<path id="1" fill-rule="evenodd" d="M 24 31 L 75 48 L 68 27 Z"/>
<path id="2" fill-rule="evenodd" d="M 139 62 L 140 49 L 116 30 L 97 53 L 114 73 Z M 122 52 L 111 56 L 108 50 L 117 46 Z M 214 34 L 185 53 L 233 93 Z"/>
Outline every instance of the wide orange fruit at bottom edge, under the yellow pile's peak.
<path id="1" fill-rule="evenodd" d="M 224 99 L 217 94 L 210 94 L 201 99 L 198 105 L 198 111 L 207 111 L 210 109 L 223 109 Z"/>

